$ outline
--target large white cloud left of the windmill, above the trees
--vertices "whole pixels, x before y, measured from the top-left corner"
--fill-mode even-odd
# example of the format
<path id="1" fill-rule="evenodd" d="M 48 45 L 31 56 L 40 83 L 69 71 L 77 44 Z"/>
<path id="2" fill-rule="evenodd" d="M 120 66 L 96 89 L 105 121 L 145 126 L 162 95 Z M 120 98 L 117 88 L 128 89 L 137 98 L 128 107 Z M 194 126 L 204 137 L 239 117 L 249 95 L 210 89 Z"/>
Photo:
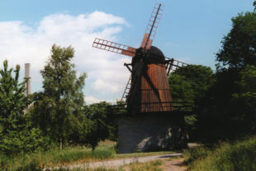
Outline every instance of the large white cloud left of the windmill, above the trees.
<path id="1" fill-rule="evenodd" d="M 99 99 L 107 99 L 107 96 L 111 96 L 111 99 L 120 98 L 129 77 L 123 63 L 130 62 L 130 58 L 93 49 L 92 41 L 95 37 L 118 41 L 117 34 L 121 32 L 122 26 L 127 25 L 124 18 L 97 11 L 78 16 L 45 16 L 36 28 L 22 21 L 0 22 L 0 67 L 4 59 L 11 66 L 20 64 L 21 69 L 24 63 L 30 62 L 32 90 L 39 90 L 42 81 L 40 70 L 50 56 L 52 44 L 72 45 L 75 49 L 73 62 L 76 70 L 88 73 L 86 95 L 92 94 L 88 90 L 94 90 L 97 93 L 93 97 Z"/>

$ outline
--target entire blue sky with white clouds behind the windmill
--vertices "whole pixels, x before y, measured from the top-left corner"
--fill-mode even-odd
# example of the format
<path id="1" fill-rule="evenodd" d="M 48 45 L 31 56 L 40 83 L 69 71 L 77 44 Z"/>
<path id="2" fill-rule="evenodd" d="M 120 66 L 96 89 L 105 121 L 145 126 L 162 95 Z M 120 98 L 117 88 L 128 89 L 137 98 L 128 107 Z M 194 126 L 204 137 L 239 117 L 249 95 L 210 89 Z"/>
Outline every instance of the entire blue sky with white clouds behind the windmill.
<path id="1" fill-rule="evenodd" d="M 89 97 L 88 103 L 92 103 L 93 100 L 95 102 L 115 101 L 121 97 L 126 79 L 129 77 L 126 68 L 121 69 L 122 63 L 129 62 L 130 58 L 93 50 L 87 53 L 91 51 L 90 41 L 93 36 L 102 36 L 104 39 L 138 47 L 155 2 L 158 1 L 1 0 L 0 62 L 7 58 L 12 65 L 20 64 L 21 67 L 24 65 L 22 62 L 31 62 L 31 66 L 34 66 L 32 72 L 37 72 L 34 74 L 36 79 L 32 76 L 32 90 L 41 90 L 39 71 L 50 55 L 50 44 L 56 43 L 62 46 L 71 44 L 78 52 L 78 58 L 74 60 L 78 72 L 88 72 L 84 89 L 85 95 Z M 231 29 L 231 17 L 237 16 L 240 12 L 252 11 L 254 0 L 163 0 L 160 2 L 164 2 L 164 15 L 153 44 L 162 49 L 167 57 L 215 69 L 215 53 L 221 47 L 221 39 Z M 90 14 L 93 14 L 94 22 L 85 20 Z M 102 17 L 106 22 L 99 25 Z M 61 23 L 70 21 L 69 24 L 63 24 L 65 25 L 63 35 L 61 35 L 61 26 L 51 28 L 51 25 L 55 25 L 57 21 Z M 87 25 L 88 22 L 91 24 Z M 74 25 L 75 28 L 71 28 Z M 81 30 L 78 29 L 79 25 L 82 25 Z M 85 32 L 83 34 L 83 28 L 88 30 L 86 34 Z M 80 34 L 80 37 L 72 37 L 67 33 Z M 66 39 L 64 39 L 65 36 L 67 36 Z M 75 38 L 79 39 L 78 44 Z M 12 39 L 14 39 L 13 44 Z M 26 44 L 25 49 L 19 49 L 19 44 Z M 24 55 L 22 56 L 21 53 Z M 38 57 L 42 62 L 41 65 L 33 62 L 37 58 L 37 53 L 42 55 Z M 95 59 L 100 62 L 95 66 L 95 70 L 92 62 L 94 57 L 90 57 L 94 53 L 97 53 Z M 88 60 L 83 61 L 83 58 Z M 90 65 L 87 65 L 88 62 L 91 62 Z M 104 73 L 110 76 L 104 76 Z M 111 77 L 116 77 L 120 81 L 115 81 Z M 108 85 L 106 87 L 105 82 Z M 104 90 L 100 90 L 101 87 Z M 107 90 L 107 87 L 110 87 L 110 90 Z"/>

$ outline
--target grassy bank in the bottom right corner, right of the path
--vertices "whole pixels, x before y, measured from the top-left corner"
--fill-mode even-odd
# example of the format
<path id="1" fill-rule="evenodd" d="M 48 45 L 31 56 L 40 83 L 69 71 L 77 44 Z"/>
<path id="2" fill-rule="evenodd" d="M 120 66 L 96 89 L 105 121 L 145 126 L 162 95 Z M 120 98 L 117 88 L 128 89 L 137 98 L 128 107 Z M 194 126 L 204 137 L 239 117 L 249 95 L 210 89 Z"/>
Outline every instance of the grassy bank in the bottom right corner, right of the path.
<path id="1" fill-rule="evenodd" d="M 197 147 L 184 151 L 190 170 L 256 170 L 256 136 L 235 142 L 221 142 L 213 149 Z"/>

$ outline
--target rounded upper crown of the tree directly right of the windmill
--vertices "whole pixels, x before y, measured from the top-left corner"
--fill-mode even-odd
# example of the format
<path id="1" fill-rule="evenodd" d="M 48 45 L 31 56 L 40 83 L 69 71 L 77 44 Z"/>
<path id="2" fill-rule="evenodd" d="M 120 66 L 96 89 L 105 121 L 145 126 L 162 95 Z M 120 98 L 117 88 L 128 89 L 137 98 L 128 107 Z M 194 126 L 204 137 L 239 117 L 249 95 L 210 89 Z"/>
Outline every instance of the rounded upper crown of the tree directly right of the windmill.
<path id="1" fill-rule="evenodd" d="M 173 101 L 178 99 L 178 101 L 199 103 L 215 81 L 211 67 L 201 65 L 180 67 L 169 77 Z"/>

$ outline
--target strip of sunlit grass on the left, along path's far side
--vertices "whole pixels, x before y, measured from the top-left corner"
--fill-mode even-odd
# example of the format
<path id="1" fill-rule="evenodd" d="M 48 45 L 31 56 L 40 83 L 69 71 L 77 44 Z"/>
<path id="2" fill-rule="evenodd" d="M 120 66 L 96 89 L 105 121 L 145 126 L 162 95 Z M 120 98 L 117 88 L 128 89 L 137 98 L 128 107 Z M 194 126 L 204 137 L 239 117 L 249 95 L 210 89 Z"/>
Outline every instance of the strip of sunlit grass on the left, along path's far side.
<path id="1" fill-rule="evenodd" d="M 115 146 L 115 142 L 107 141 L 100 143 L 94 151 L 83 146 L 69 146 L 63 150 L 57 148 L 45 152 L 21 154 L 14 157 L 7 157 L 0 154 L 0 170 L 40 171 L 43 168 L 50 168 L 62 164 L 79 164 L 102 159 L 124 159 L 172 153 L 171 151 L 160 151 L 119 155 L 116 154 Z"/>

